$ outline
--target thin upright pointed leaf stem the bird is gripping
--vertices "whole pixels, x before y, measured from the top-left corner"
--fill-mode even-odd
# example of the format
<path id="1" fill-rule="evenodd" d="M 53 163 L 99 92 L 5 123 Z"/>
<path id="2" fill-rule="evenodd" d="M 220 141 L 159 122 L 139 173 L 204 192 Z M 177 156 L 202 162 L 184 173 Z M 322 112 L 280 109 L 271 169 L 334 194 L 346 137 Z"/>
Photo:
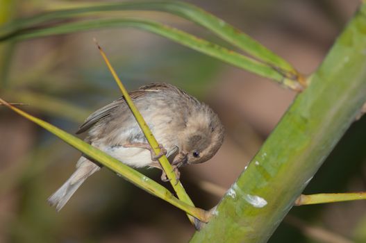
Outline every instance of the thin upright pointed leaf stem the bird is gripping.
<path id="1" fill-rule="evenodd" d="M 112 73 L 113 78 L 115 78 L 115 81 L 116 81 L 119 89 L 121 90 L 121 92 L 124 96 L 124 99 L 126 100 L 126 103 L 128 104 L 128 107 L 131 109 L 131 112 L 133 113 L 136 120 L 138 121 L 138 124 L 139 124 L 142 132 L 144 133 L 145 137 L 147 138 L 147 141 L 149 142 L 151 149 L 153 149 L 155 154 L 160 154 L 161 149 L 160 149 L 159 143 L 156 141 L 156 138 L 153 136 L 153 133 L 151 133 L 149 126 L 147 126 L 147 123 L 144 120 L 144 117 L 142 117 L 140 111 L 133 103 L 126 88 L 122 84 L 122 81 L 117 76 L 115 69 L 113 69 L 112 65 L 110 65 L 110 62 L 109 62 L 106 54 L 101 49 L 99 44 L 97 44 L 97 46 L 99 48 L 99 51 L 101 52 L 101 56 L 103 56 L 103 59 L 106 61 L 108 69 Z M 160 158 L 158 158 L 158 160 L 159 160 L 160 166 L 162 167 L 163 171 L 167 175 L 167 178 L 169 179 L 170 184 L 172 185 L 178 198 L 181 199 L 181 201 L 183 201 L 184 203 L 187 203 L 188 205 L 194 207 L 194 204 L 193 204 L 192 200 L 190 199 L 190 196 L 188 196 L 187 192 L 185 192 L 185 189 L 184 189 L 181 181 L 178 181 L 178 178 L 176 178 L 176 174 L 173 171 L 172 165 L 170 165 L 169 161 L 167 160 L 167 157 L 165 155 L 163 155 Z M 191 223 L 194 224 L 194 218 L 190 217 L 190 215 L 188 215 L 188 218 L 190 219 Z"/>

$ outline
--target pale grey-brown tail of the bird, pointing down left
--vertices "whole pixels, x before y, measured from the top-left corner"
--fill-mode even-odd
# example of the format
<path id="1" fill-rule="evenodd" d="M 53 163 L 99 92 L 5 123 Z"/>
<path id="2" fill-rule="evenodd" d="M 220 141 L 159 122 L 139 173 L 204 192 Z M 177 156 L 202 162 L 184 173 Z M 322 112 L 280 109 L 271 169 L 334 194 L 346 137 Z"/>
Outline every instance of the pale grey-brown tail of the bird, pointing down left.
<path id="1" fill-rule="evenodd" d="M 72 174 L 72 176 L 70 176 L 70 178 L 67 179 L 67 181 L 58 188 L 47 201 L 51 206 L 56 206 L 57 211 L 60 211 L 67 201 L 69 201 L 72 194 L 74 194 L 78 187 L 83 184 L 86 178 L 94 174 L 94 172 L 99 171 L 99 169 L 101 169 L 101 167 L 81 156 L 76 164 L 76 171 L 74 174 Z"/>

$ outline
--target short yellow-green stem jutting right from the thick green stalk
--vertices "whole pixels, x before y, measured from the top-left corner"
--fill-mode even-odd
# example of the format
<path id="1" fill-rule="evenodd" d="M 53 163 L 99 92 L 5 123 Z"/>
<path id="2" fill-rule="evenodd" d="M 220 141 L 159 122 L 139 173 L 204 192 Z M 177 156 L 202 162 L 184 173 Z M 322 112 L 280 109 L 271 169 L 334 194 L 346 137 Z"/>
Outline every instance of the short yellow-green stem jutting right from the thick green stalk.
<path id="1" fill-rule="evenodd" d="M 301 194 L 294 202 L 295 206 L 303 206 L 319 203 L 335 203 L 340 201 L 365 200 L 366 192 L 353 193 L 319 193 L 304 195 Z"/>

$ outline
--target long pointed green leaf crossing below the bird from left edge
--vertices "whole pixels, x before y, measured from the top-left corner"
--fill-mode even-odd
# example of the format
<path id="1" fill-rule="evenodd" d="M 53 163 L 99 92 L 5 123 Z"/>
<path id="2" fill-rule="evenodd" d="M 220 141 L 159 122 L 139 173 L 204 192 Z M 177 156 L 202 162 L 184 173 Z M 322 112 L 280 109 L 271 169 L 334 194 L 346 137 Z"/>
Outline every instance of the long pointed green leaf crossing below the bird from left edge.
<path id="1" fill-rule="evenodd" d="M 83 140 L 74 137 L 73 135 L 66 133 L 65 131 L 53 126 L 46 121 L 42 121 L 37 117 L 33 117 L 28 113 L 20 110 L 14 106 L 10 106 L 9 103 L 0 99 L 0 103 L 7 106 L 11 110 L 14 110 L 19 115 L 22 115 L 26 119 L 33 121 L 35 124 L 42 126 L 42 128 L 46 129 L 47 131 L 53 133 L 54 135 L 60 137 L 61 140 L 67 142 L 78 151 L 81 151 L 85 156 L 89 156 L 94 160 L 100 162 L 103 166 L 115 171 L 118 175 L 124 177 L 127 181 L 130 181 L 134 185 L 137 185 L 142 190 L 153 194 L 154 196 L 158 196 L 160 199 L 171 203 L 173 206 L 180 208 L 181 210 L 187 212 L 189 215 L 201 220 L 201 221 L 208 221 L 208 214 L 205 210 L 200 208 L 195 208 L 194 206 L 190 206 L 188 203 L 184 203 L 183 201 L 177 199 L 169 190 L 167 190 L 162 185 L 156 183 L 155 181 L 151 180 L 147 176 L 144 176 L 140 172 L 128 167 L 128 165 L 124 165 L 124 163 L 120 162 L 119 160 L 109 156 L 107 153 L 91 146 L 90 144 L 84 142 Z"/>

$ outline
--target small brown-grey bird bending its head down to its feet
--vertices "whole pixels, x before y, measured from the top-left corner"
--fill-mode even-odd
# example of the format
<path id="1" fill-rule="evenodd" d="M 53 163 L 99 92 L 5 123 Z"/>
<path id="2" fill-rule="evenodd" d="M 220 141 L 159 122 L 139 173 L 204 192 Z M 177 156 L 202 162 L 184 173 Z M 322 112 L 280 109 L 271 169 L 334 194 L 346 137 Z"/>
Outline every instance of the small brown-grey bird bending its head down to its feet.
<path id="1" fill-rule="evenodd" d="M 224 140 L 224 126 L 206 103 L 168 83 L 151 83 L 129 92 L 159 146 L 178 168 L 206 162 Z M 88 131 L 85 142 L 124 164 L 162 169 L 124 97 L 100 108 L 85 119 L 76 134 Z M 76 171 L 47 201 L 60 211 L 83 182 L 101 169 L 98 162 L 81 156 Z M 163 169 L 162 169 L 163 170 Z M 163 171 L 161 176 L 167 181 Z"/>

